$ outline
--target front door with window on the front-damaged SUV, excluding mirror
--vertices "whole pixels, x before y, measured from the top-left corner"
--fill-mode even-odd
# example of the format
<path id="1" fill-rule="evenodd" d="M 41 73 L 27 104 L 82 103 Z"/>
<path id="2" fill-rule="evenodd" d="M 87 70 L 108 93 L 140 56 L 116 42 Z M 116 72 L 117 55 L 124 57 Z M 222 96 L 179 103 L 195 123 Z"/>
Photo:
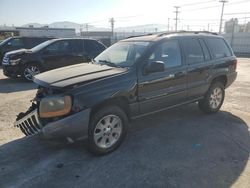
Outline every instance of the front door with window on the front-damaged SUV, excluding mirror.
<path id="1" fill-rule="evenodd" d="M 161 42 L 146 60 L 146 64 L 155 61 L 163 62 L 165 71 L 142 73 L 138 76 L 138 100 L 142 114 L 180 104 L 186 100 L 186 67 L 182 62 L 178 40 Z"/>

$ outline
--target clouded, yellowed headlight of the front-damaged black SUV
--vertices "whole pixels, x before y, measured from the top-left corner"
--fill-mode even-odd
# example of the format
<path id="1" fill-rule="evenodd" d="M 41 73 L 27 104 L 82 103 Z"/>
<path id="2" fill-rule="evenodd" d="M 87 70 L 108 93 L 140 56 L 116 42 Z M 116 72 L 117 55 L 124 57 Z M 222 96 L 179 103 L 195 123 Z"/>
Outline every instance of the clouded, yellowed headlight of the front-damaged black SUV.
<path id="1" fill-rule="evenodd" d="M 72 107 L 70 96 L 53 96 L 40 101 L 39 115 L 41 118 L 50 118 L 66 115 Z"/>

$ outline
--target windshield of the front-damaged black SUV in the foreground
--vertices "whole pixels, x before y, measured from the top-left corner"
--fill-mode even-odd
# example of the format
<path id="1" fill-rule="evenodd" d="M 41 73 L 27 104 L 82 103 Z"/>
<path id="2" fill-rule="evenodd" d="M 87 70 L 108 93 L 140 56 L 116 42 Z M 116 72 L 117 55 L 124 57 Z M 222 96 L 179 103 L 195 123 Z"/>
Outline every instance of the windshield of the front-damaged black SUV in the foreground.
<path id="1" fill-rule="evenodd" d="M 118 42 L 98 55 L 94 61 L 115 67 L 130 67 L 142 56 L 149 42 Z"/>

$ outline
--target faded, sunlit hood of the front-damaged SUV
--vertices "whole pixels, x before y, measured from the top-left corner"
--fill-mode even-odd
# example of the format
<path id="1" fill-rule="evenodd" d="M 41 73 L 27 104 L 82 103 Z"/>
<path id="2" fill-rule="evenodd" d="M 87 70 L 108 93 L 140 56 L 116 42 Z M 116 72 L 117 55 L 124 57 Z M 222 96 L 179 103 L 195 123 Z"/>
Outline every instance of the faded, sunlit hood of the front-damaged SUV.
<path id="1" fill-rule="evenodd" d="M 126 71 L 127 68 L 115 68 L 106 65 L 81 63 L 36 75 L 33 81 L 44 87 L 60 89 L 78 83 L 89 83 L 101 78 L 121 74 Z"/>

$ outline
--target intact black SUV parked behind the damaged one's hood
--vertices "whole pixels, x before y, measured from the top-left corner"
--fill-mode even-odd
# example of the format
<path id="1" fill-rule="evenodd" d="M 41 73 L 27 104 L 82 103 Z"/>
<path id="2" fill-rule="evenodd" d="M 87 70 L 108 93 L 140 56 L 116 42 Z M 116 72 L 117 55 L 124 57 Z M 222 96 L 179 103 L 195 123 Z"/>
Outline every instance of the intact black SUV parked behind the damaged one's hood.
<path id="1" fill-rule="evenodd" d="M 106 47 L 92 39 L 52 39 L 31 49 L 20 49 L 5 54 L 3 73 L 8 77 L 21 76 L 31 81 L 41 72 L 88 62 Z"/>

